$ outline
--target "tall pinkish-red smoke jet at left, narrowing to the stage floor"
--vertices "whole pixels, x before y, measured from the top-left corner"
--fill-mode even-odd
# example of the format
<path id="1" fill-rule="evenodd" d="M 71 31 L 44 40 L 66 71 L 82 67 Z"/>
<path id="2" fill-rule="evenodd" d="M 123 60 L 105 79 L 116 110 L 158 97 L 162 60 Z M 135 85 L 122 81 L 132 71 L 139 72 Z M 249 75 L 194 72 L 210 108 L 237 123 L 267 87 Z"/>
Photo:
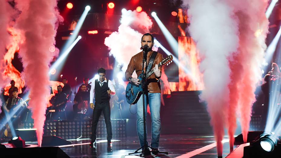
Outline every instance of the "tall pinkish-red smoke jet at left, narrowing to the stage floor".
<path id="1" fill-rule="evenodd" d="M 58 19 L 57 0 L 15 0 L 16 8 L 21 13 L 15 23 L 20 29 L 25 41 L 20 45 L 24 71 L 22 73 L 31 101 L 29 107 L 34 119 L 34 128 L 41 146 L 43 126 L 45 122 L 46 96 L 50 94 L 49 64 L 52 54 L 50 46 L 55 45 Z"/>

